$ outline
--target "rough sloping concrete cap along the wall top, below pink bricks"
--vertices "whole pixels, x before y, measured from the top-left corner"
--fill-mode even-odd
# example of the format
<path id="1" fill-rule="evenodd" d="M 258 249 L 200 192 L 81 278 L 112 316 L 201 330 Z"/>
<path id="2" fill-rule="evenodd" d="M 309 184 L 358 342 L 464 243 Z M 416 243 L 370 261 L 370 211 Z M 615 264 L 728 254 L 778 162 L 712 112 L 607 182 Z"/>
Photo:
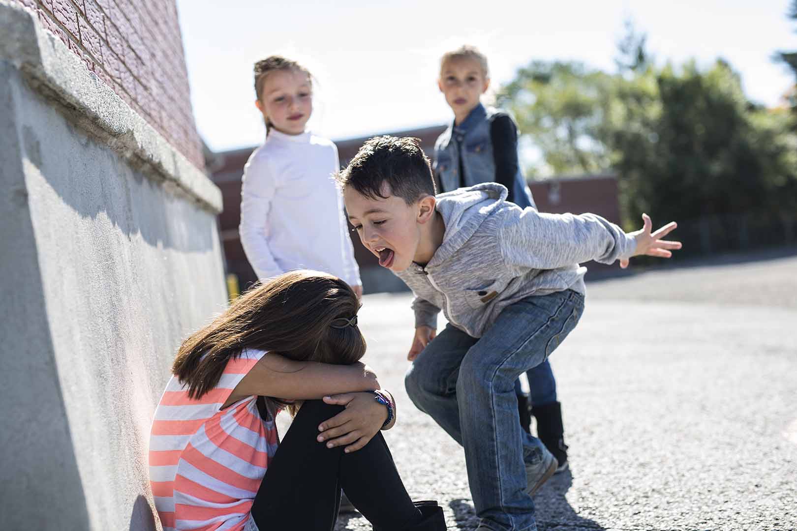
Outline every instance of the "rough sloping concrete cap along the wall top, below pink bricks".
<path id="1" fill-rule="evenodd" d="M 0 61 L 14 65 L 41 96 L 57 103 L 70 122 L 83 128 L 134 167 L 175 186 L 203 208 L 222 211 L 222 192 L 171 146 L 94 72 L 86 68 L 35 14 L 0 0 Z"/>

